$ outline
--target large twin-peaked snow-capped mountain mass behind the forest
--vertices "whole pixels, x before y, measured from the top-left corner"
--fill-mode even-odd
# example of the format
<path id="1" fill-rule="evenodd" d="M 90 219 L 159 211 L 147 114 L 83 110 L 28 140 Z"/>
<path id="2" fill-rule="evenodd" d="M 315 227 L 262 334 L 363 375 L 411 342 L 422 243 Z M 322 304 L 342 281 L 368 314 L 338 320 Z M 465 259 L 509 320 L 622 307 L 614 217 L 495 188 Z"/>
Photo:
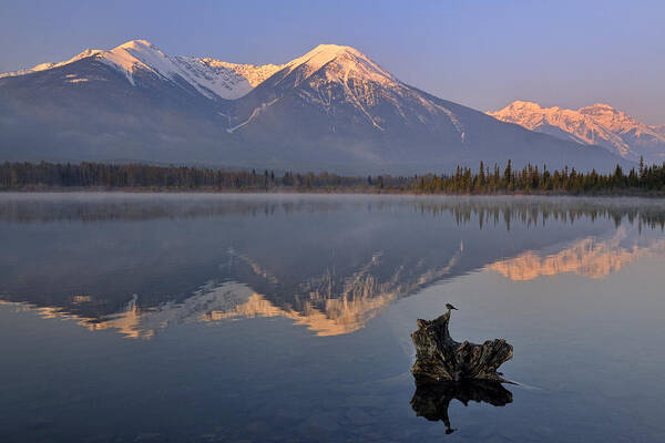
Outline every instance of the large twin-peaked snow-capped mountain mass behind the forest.
<path id="1" fill-rule="evenodd" d="M 530 130 L 428 94 L 335 44 L 252 65 L 170 56 L 133 40 L 0 74 L 0 159 L 345 174 L 446 172 L 509 158 L 610 171 L 634 159 Z"/>

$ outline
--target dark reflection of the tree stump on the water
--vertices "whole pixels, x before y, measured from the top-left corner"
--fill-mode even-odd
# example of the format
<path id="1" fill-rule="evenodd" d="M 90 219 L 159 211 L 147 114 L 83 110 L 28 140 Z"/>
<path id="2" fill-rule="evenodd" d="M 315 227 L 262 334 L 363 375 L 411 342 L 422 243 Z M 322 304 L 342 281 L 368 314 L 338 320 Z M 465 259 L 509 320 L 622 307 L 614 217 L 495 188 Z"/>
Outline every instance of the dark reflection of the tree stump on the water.
<path id="1" fill-rule="evenodd" d="M 469 401 L 504 406 L 512 403 L 512 393 L 498 381 L 448 381 L 417 387 L 411 399 L 411 408 L 418 416 L 424 416 L 430 421 L 442 421 L 446 424 L 446 433 L 450 434 L 454 431 L 448 416 L 448 406 L 452 399 L 459 400 L 464 406 L 469 404 Z"/>

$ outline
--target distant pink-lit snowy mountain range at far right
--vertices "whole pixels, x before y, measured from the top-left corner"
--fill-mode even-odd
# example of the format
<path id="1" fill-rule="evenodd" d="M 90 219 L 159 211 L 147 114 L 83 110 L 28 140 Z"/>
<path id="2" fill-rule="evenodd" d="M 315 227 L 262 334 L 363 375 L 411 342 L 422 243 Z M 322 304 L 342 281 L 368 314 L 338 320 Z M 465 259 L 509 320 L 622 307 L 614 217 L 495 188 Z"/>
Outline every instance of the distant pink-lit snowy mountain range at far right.
<path id="1" fill-rule="evenodd" d="M 566 110 L 518 101 L 488 114 L 562 140 L 600 145 L 634 162 L 665 161 L 665 125 L 646 125 L 607 104 Z"/>

